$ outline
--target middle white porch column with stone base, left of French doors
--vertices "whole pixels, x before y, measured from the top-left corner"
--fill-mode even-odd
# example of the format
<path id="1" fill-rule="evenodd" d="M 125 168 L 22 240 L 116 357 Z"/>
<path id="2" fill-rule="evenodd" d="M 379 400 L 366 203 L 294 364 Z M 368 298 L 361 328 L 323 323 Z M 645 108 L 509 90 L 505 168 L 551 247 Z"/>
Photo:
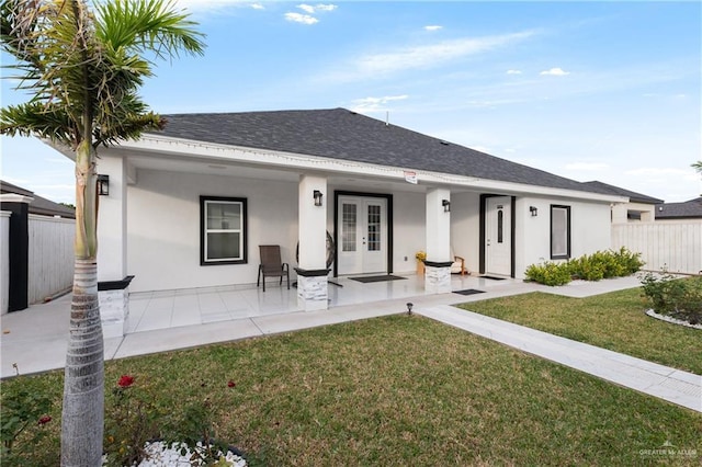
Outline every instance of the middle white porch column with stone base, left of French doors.
<path id="1" fill-rule="evenodd" d="M 315 202 L 321 193 L 321 206 Z M 302 175 L 298 185 L 299 259 L 297 272 L 297 305 L 306 311 L 328 307 L 327 275 L 327 179 Z"/>

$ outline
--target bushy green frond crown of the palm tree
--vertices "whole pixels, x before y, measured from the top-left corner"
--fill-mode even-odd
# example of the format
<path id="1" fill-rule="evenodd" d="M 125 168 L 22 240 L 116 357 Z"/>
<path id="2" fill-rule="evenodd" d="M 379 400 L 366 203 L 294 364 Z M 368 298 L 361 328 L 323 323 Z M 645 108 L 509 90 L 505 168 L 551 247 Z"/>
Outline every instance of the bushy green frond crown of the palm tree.
<path id="1" fill-rule="evenodd" d="M 97 15 L 88 0 L 2 0 L 2 47 L 16 58 L 18 88 L 33 93 L 27 106 L 7 110 L 4 134 L 35 134 L 75 148 L 162 126 L 137 94 L 152 76 L 148 56 L 202 54 L 203 35 L 173 0 L 93 3 Z M 32 111 L 41 116 L 36 122 Z"/>

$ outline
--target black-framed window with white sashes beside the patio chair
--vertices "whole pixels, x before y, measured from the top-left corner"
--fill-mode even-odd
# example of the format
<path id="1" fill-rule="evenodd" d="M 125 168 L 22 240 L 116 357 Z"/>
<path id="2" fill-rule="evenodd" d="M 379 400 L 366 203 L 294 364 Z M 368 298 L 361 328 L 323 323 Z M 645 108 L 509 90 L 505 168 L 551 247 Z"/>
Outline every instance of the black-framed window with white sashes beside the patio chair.
<path id="1" fill-rule="evenodd" d="M 200 264 L 247 262 L 246 198 L 200 196 Z"/>

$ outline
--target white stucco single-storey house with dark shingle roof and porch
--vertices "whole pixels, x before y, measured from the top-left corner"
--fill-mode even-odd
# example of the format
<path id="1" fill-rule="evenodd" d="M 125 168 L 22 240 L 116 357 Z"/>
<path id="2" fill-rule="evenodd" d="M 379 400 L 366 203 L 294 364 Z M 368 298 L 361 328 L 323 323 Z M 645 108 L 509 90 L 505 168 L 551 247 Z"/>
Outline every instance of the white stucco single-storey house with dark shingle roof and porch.
<path id="1" fill-rule="evenodd" d="M 414 273 L 419 250 L 427 289 L 450 292 L 452 251 L 523 277 L 609 249 L 629 201 L 344 109 L 165 117 L 100 152 L 99 280 L 132 292 L 253 284 L 260 244 L 281 246 L 301 309 L 326 308 L 333 276 Z"/>

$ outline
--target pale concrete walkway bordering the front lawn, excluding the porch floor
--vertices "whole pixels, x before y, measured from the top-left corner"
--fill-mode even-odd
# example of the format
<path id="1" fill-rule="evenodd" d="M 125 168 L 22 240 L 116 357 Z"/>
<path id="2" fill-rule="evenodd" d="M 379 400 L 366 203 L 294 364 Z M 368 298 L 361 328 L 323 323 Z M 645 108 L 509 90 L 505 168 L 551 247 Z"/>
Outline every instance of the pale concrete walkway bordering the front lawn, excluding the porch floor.
<path id="1" fill-rule="evenodd" d="M 336 306 L 322 311 L 291 311 L 199 326 L 171 327 L 133 332 L 123 338 L 106 339 L 105 360 L 396 315 L 407 312 L 406 304 L 411 301 L 415 314 L 702 412 L 702 376 L 451 306 L 533 291 L 586 297 L 638 285 L 639 282 L 635 277 L 597 283 L 576 282 L 563 287 L 544 287 L 523 282 L 503 281 L 503 284 L 485 287 L 485 293 L 468 296 L 457 294 L 422 295 Z M 69 309 L 70 297 L 63 297 L 54 303 L 33 307 L 11 317 L 3 316 L 3 335 L 0 339 L 2 377 L 11 377 L 18 373 L 45 372 L 64 366 Z M 16 364 L 16 368 L 14 364 Z"/>

